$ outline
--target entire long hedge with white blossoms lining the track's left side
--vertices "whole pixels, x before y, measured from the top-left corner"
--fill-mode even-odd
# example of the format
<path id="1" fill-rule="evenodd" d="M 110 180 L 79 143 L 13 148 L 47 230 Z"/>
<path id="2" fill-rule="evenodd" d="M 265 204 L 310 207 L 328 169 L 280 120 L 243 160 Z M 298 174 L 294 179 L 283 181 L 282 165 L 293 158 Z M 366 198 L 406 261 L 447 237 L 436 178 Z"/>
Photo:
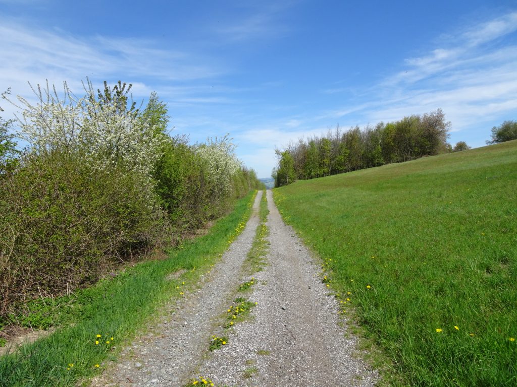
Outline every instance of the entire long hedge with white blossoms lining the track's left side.
<path id="1" fill-rule="evenodd" d="M 62 95 L 38 86 L 36 104 L 16 102 L 21 155 L 0 119 L 0 329 L 22 301 L 174 246 L 262 187 L 230 138 L 171 137 L 156 93 L 141 110 L 130 89 L 88 83 L 77 98 L 66 84 Z"/>

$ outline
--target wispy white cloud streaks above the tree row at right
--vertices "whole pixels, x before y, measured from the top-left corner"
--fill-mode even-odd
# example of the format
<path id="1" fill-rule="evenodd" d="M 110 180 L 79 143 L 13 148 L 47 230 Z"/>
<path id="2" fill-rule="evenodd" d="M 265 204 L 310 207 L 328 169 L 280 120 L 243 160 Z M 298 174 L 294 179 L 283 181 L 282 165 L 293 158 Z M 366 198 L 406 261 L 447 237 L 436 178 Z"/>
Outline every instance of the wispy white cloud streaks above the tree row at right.
<path id="1" fill-rule="evenodd" d="M 515 31 L 517 12 L 470 25 L 441 47 L 405 59 L 403 71 L 321 118 L 353 114 L 375 123 L 443 108 L 453 131 L 460 131 L 504 112 L 515 114 L 517 46 L 495 44 Z"/>

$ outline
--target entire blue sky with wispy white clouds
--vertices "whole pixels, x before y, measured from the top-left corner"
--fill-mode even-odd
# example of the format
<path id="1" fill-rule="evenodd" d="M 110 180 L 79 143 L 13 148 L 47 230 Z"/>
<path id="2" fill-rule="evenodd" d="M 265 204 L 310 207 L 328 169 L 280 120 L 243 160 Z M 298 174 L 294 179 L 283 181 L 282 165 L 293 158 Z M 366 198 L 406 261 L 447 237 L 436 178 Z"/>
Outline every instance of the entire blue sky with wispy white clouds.
<path id="1" fill-rule="evenodd" d="M 517 120 L 517 1 L 0 0 L 0 41 L 0 91 L 120 79 L 168 103 L 172 134 L 230 133 L 259 177 L 337 124 L 442 108 L 480 147 Z"/>

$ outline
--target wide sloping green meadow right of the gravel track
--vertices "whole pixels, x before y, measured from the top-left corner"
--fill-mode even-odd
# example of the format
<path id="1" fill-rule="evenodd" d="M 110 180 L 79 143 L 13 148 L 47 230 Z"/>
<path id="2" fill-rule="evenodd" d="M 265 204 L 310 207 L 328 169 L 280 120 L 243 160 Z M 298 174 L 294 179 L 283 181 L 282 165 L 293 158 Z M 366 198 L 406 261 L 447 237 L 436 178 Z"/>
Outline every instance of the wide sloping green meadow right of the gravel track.
<path id="1" fill-rule="evenodd" d="M 517 141 L 274 193 L 405 383 L 517 385 Z"/>

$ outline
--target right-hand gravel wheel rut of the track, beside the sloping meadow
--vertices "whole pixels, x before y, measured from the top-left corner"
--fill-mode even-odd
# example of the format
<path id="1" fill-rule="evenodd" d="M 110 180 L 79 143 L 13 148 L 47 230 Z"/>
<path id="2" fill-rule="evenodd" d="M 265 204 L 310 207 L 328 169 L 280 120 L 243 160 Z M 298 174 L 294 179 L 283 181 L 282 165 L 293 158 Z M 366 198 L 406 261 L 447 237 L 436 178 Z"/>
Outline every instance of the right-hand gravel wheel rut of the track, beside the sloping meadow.
<path id="1" fill-rule="evenodd" d="M 286 225 L 267 191 L 269 266 L 255 274 L 255 316 L 201 368 L 217 386 L 372 386 L 377 379 L 353 356 L 356 338 L 338 324 L 338 301 L 318 279 L 311 254 Z"/>

